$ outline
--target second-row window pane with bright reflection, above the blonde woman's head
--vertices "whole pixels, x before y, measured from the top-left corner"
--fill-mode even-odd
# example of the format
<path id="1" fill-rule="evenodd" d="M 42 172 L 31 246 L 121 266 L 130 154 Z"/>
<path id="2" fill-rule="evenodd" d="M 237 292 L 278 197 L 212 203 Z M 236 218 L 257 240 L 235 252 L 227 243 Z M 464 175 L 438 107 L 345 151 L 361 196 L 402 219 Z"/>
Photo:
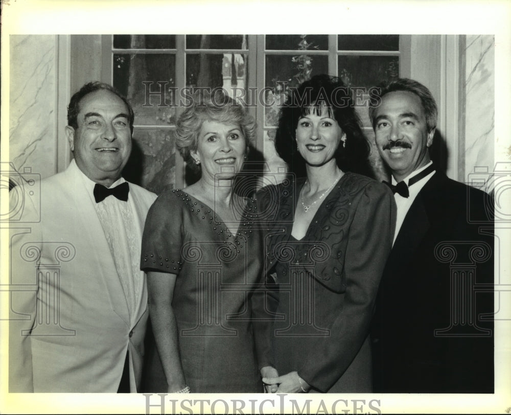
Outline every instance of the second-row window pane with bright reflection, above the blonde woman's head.
<path id="1" fill-rule="evenodd" d="M 187 86 L 223 87 L 229 96 L 239 97 L 246 90 L 247 60 L 239 53 L 187 55 Z"/>

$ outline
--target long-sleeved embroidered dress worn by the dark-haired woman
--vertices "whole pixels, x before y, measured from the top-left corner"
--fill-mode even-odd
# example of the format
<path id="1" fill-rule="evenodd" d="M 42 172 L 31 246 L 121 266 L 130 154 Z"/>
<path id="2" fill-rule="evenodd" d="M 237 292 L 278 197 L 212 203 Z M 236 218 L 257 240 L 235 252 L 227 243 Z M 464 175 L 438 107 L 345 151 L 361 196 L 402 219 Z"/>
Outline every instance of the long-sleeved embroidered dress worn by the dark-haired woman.
<path id="1" fill-rule="evenodd" d="M 305 179 L 263 188 L 265 269 L 276 281 L 272 343 L 280 375 L 297 371 L 311 392 L 371 391 L 369 326 L 392 244 L 396 208 L 375 180 L 345 173 L 304 236 L 291 235 Z"/>

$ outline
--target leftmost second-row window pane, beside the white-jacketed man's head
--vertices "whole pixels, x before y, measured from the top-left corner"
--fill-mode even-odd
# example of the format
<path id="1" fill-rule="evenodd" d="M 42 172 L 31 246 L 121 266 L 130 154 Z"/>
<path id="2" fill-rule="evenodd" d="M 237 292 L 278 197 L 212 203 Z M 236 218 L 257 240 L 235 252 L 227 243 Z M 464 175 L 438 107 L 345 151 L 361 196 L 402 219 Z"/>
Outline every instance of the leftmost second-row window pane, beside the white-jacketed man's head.
<path id="1" fill-rule="evenodd" d="M 135 125 L 175 124 L 174 55 L 113 55 L 113 85 L 135 111 Z"/>

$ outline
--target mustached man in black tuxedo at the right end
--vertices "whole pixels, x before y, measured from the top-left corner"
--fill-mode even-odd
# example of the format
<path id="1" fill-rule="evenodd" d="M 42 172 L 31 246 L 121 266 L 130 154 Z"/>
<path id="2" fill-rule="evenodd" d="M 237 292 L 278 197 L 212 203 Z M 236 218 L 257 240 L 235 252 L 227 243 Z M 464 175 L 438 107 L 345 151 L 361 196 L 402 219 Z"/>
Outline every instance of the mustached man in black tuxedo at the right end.
<path id="1" fill-rule="evenodd" d="M 374 391 L 493 393 L 490 196 L 431 162 L 428 88 L 398 79 L 375 89 L 369 115 L 398 210 L 373 325 Z"/>

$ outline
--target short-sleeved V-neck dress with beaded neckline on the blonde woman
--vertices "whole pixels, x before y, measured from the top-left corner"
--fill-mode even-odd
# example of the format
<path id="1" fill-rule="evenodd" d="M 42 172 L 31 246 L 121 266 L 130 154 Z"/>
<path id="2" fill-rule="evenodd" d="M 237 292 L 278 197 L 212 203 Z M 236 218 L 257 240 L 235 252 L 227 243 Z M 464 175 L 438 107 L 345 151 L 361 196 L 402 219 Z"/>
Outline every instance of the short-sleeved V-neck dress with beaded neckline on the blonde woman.
<path id="1" fill-rule="evenodd" d="M 239 217 L 232 234 L 212 207 L 182 190 L 162 193 L 147 215 L 141 268 L 177 275 L 172 308 L 194 393 L 262 391 L 251 321 L 262 268 L 255 204 L 239 206 Z"/>

